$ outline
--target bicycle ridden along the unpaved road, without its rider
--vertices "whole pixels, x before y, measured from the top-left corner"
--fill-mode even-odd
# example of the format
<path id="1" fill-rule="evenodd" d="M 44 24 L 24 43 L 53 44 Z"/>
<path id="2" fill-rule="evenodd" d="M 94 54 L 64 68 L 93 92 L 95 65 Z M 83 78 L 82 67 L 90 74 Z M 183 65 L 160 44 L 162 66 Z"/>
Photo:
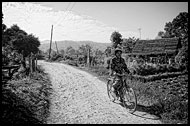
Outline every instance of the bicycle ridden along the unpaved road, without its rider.
<path id="1" fill-rule="evenodd" d="M 122 84 L 121 84 L 122 87 L 117 91 L 119 94 L 120 101 L 122 102 L 123 106 L 128 110 L 129 113 L 134 113 L 137 107 L 137 98 L 136 98 L 135 91 L 133 90 L 132 87 L 130 87 L 127 84 L 126 74 L 116 73 L 115 75 L 122 77 Z M 113 95 L 115 93 L 112 91 L 113 81 L 114 81 L 114 78 L 112 77 L 112 78 L 108 78 L 108 82 L 107 82 L 107 93 L 108 93 L 108 97 L 110 98 L 112 102 L 116 100 L 116 97 Z"/>

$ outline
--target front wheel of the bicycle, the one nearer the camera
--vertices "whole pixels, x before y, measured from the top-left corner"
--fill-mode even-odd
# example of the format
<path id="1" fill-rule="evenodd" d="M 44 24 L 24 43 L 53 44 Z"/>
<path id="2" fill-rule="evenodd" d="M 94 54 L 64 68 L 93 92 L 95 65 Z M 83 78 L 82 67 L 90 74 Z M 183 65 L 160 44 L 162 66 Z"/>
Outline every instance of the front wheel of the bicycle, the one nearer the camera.
<path id="1" fill-rule="evenodd" d="M 131 87 L 123 88 L 123 105 L 129 113 L 134 113 L 137 107 L 135 91 Z"/>

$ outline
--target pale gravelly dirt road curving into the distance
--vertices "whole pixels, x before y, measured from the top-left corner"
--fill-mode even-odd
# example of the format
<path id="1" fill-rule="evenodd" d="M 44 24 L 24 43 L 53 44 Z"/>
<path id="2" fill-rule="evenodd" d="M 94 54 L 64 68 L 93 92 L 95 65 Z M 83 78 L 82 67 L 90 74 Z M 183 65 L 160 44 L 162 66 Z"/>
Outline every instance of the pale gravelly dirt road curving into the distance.
<path id="1" fill-rule="evenodd" d="M 130 114 L 108 99 L 106 84 L 96 77 L 61 63 L 39 61 L 50 75 L 48 124 L 144 124 L 161 123 L 143 112 Z"/>

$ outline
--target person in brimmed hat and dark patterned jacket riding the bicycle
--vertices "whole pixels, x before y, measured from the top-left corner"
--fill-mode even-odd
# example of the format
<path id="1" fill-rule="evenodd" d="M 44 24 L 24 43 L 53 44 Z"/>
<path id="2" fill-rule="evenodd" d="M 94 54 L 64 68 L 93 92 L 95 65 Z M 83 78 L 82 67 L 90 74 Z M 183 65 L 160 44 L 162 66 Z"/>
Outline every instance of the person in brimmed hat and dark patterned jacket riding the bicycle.
<path id="1" fill-rule="evenodd" d="M 115 56 L 110 60 L 110 76 L 114 78 L 113 82 L 113 91 L 118 99 L 118 90 L 122 87 L 122 76 L 119 74 L 123 74 L 124 71 L 126 73 L 130 73 L 125 60 L 121 57 L 122 49 L 121 47 L 117 47 L 115 49 Z"/>

